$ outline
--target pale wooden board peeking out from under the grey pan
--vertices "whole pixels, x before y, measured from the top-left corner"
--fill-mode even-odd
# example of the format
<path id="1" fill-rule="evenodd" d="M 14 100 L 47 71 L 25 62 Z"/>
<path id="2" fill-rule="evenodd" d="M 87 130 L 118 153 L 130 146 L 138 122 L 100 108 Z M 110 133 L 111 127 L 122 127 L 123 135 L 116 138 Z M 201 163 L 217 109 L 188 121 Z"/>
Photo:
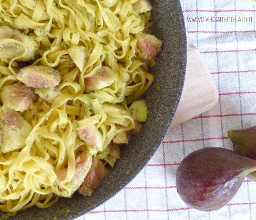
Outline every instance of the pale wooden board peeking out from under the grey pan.
<path id="1" fill-rule="evenodd" d="M 187 66 L 184 88 L 171 127 L 210 110 L 219 94 L 199 50 L 187 34 Z"/>

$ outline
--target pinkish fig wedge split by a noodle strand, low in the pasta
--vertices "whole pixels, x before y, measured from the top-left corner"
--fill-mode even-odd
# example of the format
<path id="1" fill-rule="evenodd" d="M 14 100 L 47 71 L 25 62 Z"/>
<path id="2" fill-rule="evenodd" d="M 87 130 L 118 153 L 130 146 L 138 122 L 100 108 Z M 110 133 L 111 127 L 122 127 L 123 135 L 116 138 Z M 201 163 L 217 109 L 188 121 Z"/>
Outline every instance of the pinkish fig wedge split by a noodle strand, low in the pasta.
<path id="1" fill-rule="evenodd" d="M 87 175 L 87 173 L 91 168 L 91 165 L 92 165 L 91 154 L 81 153 L 76 155 L 76 169 L 74 172 L 74 176 L 72 180 L 68 182 L 72 186 L 71 194 L 73 194 L 79 188 L 81 183 L 83 183 L 85 176 Z M 61 190 L 64 190 L 64 188 L 61 187 L 61 182 L 66 179 L 67 169 L 68 168 L 62 169 L 57 175 L 56 182 L 59 185 L 59 188 L 61 188 Z"/>

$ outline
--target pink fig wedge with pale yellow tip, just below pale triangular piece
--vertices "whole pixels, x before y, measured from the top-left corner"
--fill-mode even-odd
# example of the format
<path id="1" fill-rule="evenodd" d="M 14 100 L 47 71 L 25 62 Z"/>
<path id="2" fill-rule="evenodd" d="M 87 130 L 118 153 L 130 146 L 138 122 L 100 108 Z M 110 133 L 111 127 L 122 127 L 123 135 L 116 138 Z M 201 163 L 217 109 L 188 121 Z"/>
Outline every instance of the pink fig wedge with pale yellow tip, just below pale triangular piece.
<path id="1" fill-rule="evenodd" d="M 95 76 L 86 77 L 84 79 L 85 92 L 96 91 L 105 87 L 110 86 L 116 79 L 118 75 L 113 72 L 108 66 L 102 66 Z"/>

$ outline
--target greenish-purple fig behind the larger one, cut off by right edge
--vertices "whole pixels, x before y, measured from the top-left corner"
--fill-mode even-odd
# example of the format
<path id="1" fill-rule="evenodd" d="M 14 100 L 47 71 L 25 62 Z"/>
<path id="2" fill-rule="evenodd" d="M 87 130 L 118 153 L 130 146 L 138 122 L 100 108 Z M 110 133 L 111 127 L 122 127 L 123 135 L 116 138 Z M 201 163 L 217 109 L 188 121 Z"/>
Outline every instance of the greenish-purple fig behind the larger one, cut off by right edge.
<path id="1" fill-rule="evenodd" d="M 235 152 L 256 160 L 256 126 L 230 130 L 227 133 Z M 256 181 L 256 172 L 250 173 L 247 178 Z"/>

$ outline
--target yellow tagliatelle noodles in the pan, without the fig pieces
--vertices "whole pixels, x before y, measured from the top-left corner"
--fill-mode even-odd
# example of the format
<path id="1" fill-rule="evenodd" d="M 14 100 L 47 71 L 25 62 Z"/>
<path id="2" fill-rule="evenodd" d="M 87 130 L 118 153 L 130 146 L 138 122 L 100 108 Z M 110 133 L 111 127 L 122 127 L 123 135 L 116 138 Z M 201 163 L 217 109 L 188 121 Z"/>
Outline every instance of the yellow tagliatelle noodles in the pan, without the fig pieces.
<path id="1" fill-rule="evenodd" d="M 51 67 L 62 74 L 57 86 L 61 95 L 52 103 L 37 99 L 28 110 L 19 111 L 32 126 L 25 146 L 0 151 L 0 210 L 17 212 L 33 205 L 47 208 L 59 197 L 72 197 L 70 179 L 76 170 L 76 155 L 87 153 L 111 166 L 119 158 L 118 150 L 108 156 L 106 149 L 117 133 L 134 129 L 127 105 L 154 79 L 147 72 L 154 59 L 140 58 L 135 37 L 149 23 L 151 12 L 135 12 L 129 0 L 4 0 L 0 7 L 0 26 L 19 30 L 37 43 L 32 66 Z M 17 40 L 9 37 L 1 42 Z M 15 76 L 20 70 L 15 60 L 22 60 L 29 47 L 19 44 L 23 51 L 19 56 L 0 61 L 0 89 L 22 85 Z M 89 52 L 80 66 L 74 65 L 70 55 L 75 46 Z M 104 88 L 85 91 L 85 79 L 104 66 L 117 78 Z M 78 130 L 92 125 L 102 138 L 99 148 L 77 135 Z M 59 185 L 57 175 L 64 168 L 68 168 L 66 178 Z"/>

